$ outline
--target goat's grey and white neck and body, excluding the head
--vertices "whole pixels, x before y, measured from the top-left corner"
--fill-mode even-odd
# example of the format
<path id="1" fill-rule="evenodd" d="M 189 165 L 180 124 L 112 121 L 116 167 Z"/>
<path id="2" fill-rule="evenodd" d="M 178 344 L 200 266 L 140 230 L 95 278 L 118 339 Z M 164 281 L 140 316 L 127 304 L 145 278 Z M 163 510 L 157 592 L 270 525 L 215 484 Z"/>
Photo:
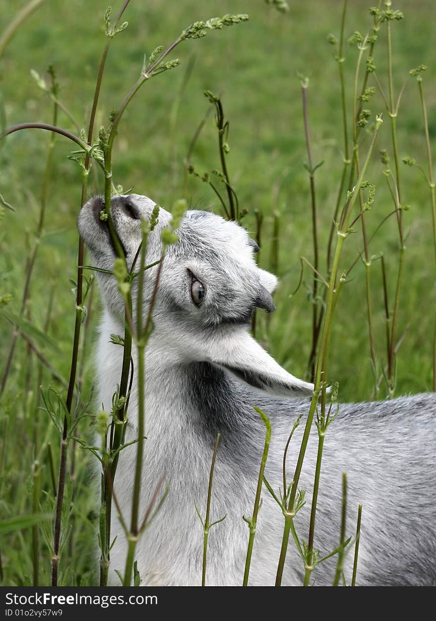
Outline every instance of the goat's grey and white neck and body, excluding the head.
<path id="1" fill-rule="evenodd" d="M 110 334 L 120 324 L 105 313 L 97 348 L 99 404 L 110 409 L 113 386 L 122 366 L 122 348 Z M 242 515 L 251 515 L 256 493 L 264 426 L 252 406 L 272 422 L 272 439 L 265 476 L 273 489 L 282 487 L 282 456 L 296 417 L 308 412 L 308 400 L 279 399 L 246 388 L 225 370 L 205 361 L 169 360 L 168 343 L 159 330 L 146 350 L 146 445 L 141 510 L 148 506 L 164 474 L 169 493 L 136 548 L 143 586 L 193 586 L 201 582 L 203 531 L 195 511 L 205 515 L 208 476 L 216 433 L 221 442 L 215 464 L 211 521 L 226 519 L 210 530 L 206 584 L 242 584 L 248 528 Z M 135 352 L 134 352 L 135 356 Z M 315 545 L 320 558 L 339 543 L 341 476 L 348 475 L 347 536 L 355 530 L 358 504 L 363 504 L 358 557 L 360 585 L 428 585 L 436 583 L 435 394 L 392 401 L 341 404 L 324 445 L 319 487 Z M 130 397 L 126 442 L 136 438 L 137 391 Z M 288 480 L 295 468 L 304 425 L 288 451 Z M 300 478 L 306 505 L 295 518 L 300 538 L 309 528 L 316 430 L 309 437 Z M 123 450 L 115 477 L 115 495 L 126 520 L 130 518 L 135 445 Z M 283 533 L 283 515 L 269 492 L 262 490 L 249 584 L 273 585 Z M 123 571 L 127 542 L 115 512 L 111 537 L 112 583 L 115 569 Z M 350 547 L 352 543 L 349 544 Z M 344 574 L 352 574 L 352 553 Z M 319 564 L 314 584 L 331 584 L 336 556 Z M 290 543 L 282 584 L 303 580 L 303 561 Z"/>

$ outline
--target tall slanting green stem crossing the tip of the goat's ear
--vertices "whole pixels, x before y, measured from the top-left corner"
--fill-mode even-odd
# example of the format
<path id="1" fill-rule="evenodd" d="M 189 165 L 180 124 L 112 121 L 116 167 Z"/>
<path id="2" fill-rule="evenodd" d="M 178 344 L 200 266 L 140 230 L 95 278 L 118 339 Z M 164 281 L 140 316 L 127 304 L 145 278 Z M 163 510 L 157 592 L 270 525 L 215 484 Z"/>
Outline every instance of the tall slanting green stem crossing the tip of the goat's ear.
<path id="1" fill-rule="evenodd" d="M 327 303 L 326 303 L 326 313 L 324 315 L 324 324 L 323 324 L 323 332 L 321 333 L 321 342 L 319 345 L 318 351 L 318 360 L 316 365 L 316 375 L 315 375 L 315 387 L 313 392 L 313 397 L 311 399 L 310 409 L 308 418 L 306 420 L 305 431 L 303 433 L 303 439 L 301 440 L 300 445 L 300 453 L 298 454 L 298 460 L 296 463 L 295 474 L 293 476 L 293 484 L 291 488 L 290 499 L 288 502 L 287 512 L 285 515 L 285 527 L 283 528 L 283 538 L 282 538 L 282 546 L 280 549 L 280 558 L 278 561 L 277 567 L 277 576 L 275 581 L 275 586 L 280 586 L 282 584 L 282 576 L 283 569 L 285 566 L 285 559 L 287 555 L 288 548 L 288 540 L 289 533 L 291 530 L 291 524 L 293 518 L 295 517 L 295 498 L 298 490 L 298 481 L 300 480 L 301 469 L 303 468 L 303 461 L 305 458 L 306 447 L 309 440 L 309 434 L 313 423 L 313 417 L 316 410 L 316 406 L 318 403 L 318 395 L 319 389 L 321 388 L 321 380 L 326 381 L 326 377 L 323 376 L 324 368 L 326 366 L 326 355 L 328 355 L 329 351 L 329 337 L 331 332 L 331 322 L 332 316 L 334 313 L 334 309 L 336 308 L 336 300 L 334 299 L 335 289 L 336 289 L 336 278 L 337 271 L 339 268 L 339 259 L 342 252 L 342 245 L 344 243 L 345 237 L 347 236 L 347 229 L 350 220 L 350 214 L 355 206 L 355 202 L 357 201 L 358 192 L 360 187 L 362 186 L 363 178 L 366 174 L 368 163 L 370 161 L 371 153 L 373 152 L 373 148 L 375 145 L 376 137 L 378 132 L 380 131 L 380 127 L 382 124 L 382 120 L 380 117 L 376 118 L 375 130 L 373 132 L 370 147 L 368 149 L 367 157 L 365 158 L 365 163 L 363 164 L 362 171 L 360 172 L 360 176 L 357 179 L 357 183 L 355 185 L 355 191 L 350 197 L 349 201 L 345 202 L 344 209 L 342 212 L 341 224 L 339 230 L 337 232 L 337 244 L 336 250 L 334 253 L 333 263 L 332 263 L 332 271 L 330 276 L 329 290 L 327 292 Z"/>

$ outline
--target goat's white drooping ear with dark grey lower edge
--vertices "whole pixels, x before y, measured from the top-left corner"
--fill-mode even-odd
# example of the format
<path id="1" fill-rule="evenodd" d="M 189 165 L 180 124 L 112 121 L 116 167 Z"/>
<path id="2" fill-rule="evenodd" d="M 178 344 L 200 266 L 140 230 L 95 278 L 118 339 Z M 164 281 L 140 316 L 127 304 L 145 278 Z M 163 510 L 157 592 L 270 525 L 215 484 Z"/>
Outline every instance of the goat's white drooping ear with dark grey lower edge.
<path id="1" fill-rule="evenodd" d="M 225 369 L 252 388 L 280 397 L 301 397 L 313 393 L 313 384 L 285 371 L 244 329 L 211 343 L 208 354 L 213 365 Z"/>

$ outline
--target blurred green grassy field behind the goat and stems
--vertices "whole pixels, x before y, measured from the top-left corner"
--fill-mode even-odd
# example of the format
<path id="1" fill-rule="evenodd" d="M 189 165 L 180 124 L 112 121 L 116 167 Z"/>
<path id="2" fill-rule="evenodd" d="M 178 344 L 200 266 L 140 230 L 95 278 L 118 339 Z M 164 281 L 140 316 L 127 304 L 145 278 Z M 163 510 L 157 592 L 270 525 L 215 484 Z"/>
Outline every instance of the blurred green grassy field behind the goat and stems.
<path id="1" fill-rule="evenodd" d="M 368 2 L 349 3 L 346 39 L 355 31 L 363 34 L 371 27 Z M 430 138 L 436 132 L 436 48 L 431 45 L 435 8 L 431 0 L 396 3 L 404 20 L 393 24 L 394 90 L 399 89 L 411 68 L 424 63 L 424 91 L 429 114 Z M 11 0 L 0 6 L 0 33 L 22 6 Z M 47 0 L 25 22 L 0 61 L 0 91 L 6 111 L 6 125 L 25 121 L 51 122 L 52 105 L 47 94 L 38 89 L 30 70 L 44 75 L 53 65 L 61 84 L 60 100 L 71 111 L 79 127 L 87 126 L 96 74 L 105 37 L 102 16 L 107 4 L 101 0 Z M 182 65 L 149 81 L 133 100 L 122 120 L 114 153 L 115 183 L 134 188 L 169 209 L 176 199 L 185 197 L 195 209 L 215 208 L 214 194 L 207 184 L 185 173 L 184 157 L 198 124 L 210 104 L 204 89 L 222 95 L 229 119 L 229 173 L 238 192 L 241 207 L 248 210 L 244 225 L 254 231 L 254 209 L 264 214 L 260 265 L 274 268 L 272 237 L 274 214 L 280 214 L 278 229 L 278 266 L 281 284 L 275 296 L 277 311 L 269 324 L 260 322 L 259 338 L 270 353 L 290 373 L 302 377 L 308 366 L 311 340 L 310 291 L 313 274 L 305 268 L 303 283 L 291 296 L 300 278 L 300 256 L 313 260 L 311 207 L 301 84 L 298 73 L 309 77 L 308 117 L 314 163 L 324 160 L 316 172 L 320 271 L 326 276 L 326 245 L 332 213 L 342 172 L 342 112 L 337 63 L 327 35 L 339 36 L 342 3 L 333 0 L 290 2 L 290 12 L 280 14 L 262 0 L 222 0 L 201 3 L 131 1 L 125 14 L 128 29 L 117 35 L 110 48 L 105 71 L 96 127 L 107 122 L 140 74 L 143 54 L 157 45 L 169 44 L 180 30 L 194 19 L 215 15 L 247 13 L 247 23 L 211 32 L 205 39 L 183 43 L 176 57 Z M 118 6 L 114 6 L 114 11 Z M 349 119 L 358 50 L 345 43 L 345 84 Z M 186 67 L 193 63 L 184 92 Z M 385 91 L 387 48 L 385 29 L 381 28 L 375 51 L 376 73 Z M 370 78 L 370 85 L 375 82 Z M 371 235 L 381 220 L 392 211 L 378 150 L 391 152 L 389 119 L 380 93 L 369 104 L 373 113 L 384 112 L 376 153 L 367 178 L 376 184 L 376 197 L 367 214 Z M 74 131 L 71 121 L 60 111 L 58 124 Z M 426 169 L 424 127 L 416 80 L 409 79 L 398 112 L 399 155 L 411 156 Z M 370 127 L 370 125 L 368 125 Z M 368 137 L 362 131 L 361 157 Z M 8 137 L 0 151 L 0 193 L 16 212 L 4 210 L 0 224 L 0 297 L 11 294 L 7 310 L 19 313 L 24 285 L 27 248 L 32 245 L 42 192 L 42 178 L 50 135 L 38 130 L 17 132 Z M 67 159 L 71 147 L 56 137 L 53 174 L 47 204 L 42 243 L 32 279 L 29 316 L 43 328 L 48 300 L 53 293 L 48 335 L 56 345 L 41 345 L 44 355 L 63 378 L 68 378 L 74 327 L 74 295 L 70 279 L 76 278 L 76 219 L 80 207 L 81 173 Z M 218 148 L 213 115 L 209 116 L 195 143 L 191 158 L 199 171 L 218 166 Z M 404 278 L 398 315 L 398 338 L 404 335 L 398 351 L 396 394 L 431 389 L 432 335 L 436 307 L 434 247 L 430 215 L 429 189 L 416 168 L 401 164 L 403 202 L 407 235 Z M 89 193 L 102 192 L 100 171 L 91 176 Z M 362 233 L 346 240 L 341 269 L 362 252 Z M 378 230 L 370 253 L 383 253 L 388 273 L 389 302 L 393 304 L 398 270 L 398 232 L 395 217 Z M 378 364 L 386 364 L 385 309 L 380 260 L 371 266 L 371 292 Z M 89 323 L 89 345 L 84 359 L 83 397 L 92 386 L 92 341 L 99 316 L 97 291 L 94 294 Z M 0 318 L 1 319 L 1 318 Z M 11 338 L 11 327 L 1 320 L 0 372 Z M 37 401 L 37 361 L 33 356 L 29 373 L 27 347 L 19 340 L 11 376 L 0 402 L 0 520 L 30 510 L 29 478 L 33 449 L 32 433 Z M 332 332 L 330 374 L 340 384 L 342 401 L 370 399 L 373 389 L 368 345 L 365 268 L 358 261 L 350 282 L 344 286 Z M 51 381 L 44 372 L 45 386 Z M 29 393 L 29 386 L 32 392 Z M 380 398 L 386 389 L 381 383 Z M 53 428 L 39 414 L 39 431 L 53 443 L 55 471 L 58 440 Z M 88 433 L 85 421 L 80 433 Z M 6 442 L 7 429 L 7 442 Z M 61 582 L 92 580 L 93 522 L 95 503 L 89 493 L 87 455 L 76 448 L 74 468 L 73 524 L 64 551 Z M 40 455 L 45 461 L 44 455 Z M 48 468 L 42 471 L 42 489 L 50 484 Z M 30 491 L 29 491 L 30 490 Z M 50 555 L 43 544 L 42 583 L 48 582 Z M 32 574 L 30 530 L 17 531 L 4 541 L 0 538 L 4 584 L 29 584 Z M 65 573 L 74 558 L 74 574 Z M 95 577 L 94 577 L 95 578 Z"/>

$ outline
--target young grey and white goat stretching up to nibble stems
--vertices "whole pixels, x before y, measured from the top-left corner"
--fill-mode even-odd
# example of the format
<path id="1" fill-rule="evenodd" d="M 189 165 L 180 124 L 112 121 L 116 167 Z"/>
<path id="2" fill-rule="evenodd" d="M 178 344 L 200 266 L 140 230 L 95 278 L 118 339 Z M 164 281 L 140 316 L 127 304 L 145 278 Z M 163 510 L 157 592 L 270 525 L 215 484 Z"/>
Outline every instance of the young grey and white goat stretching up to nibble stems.
<path id="1" fill-rule="evenodd" d="M 112 200 L 111 214 L 130 266 L 141 242 L 141 218 L 149 219 L 154 202 L 130 194 Z M 115 253 L 107 224 L 100 220 L 102 199 L 87 202 L 79 230 L 94 265 L 112 270 Z M 146 263 L 161 256 L 160 232 L 171 214 L 159 212 L 149 235 Z M 265 428 L 252 406 L 272 423 L 265 476 L 275 491 L 282 481 L 283 450 L 296 417 L 307 415 L 312 384 L 296 379 L 249 335 L 256 308 L 274 311 L 277 284 L 260 270 L 258 250 L 234 222 L 202 211 L 188 211 L 177 230 L 179 242 L 163 261 L 153 311 L 154 331 L 146 347 L 146 444 L 141 507 L 148 506 L 165 474 L 169 494 L 136 548 L 143 584 L 197 585 L 202 575 L 202 527 L 194 501 L 205 515 L 208 476 L 217 432 L 221 442 L 215 465 L 211 521 L 227 514 L 210 531 L 207 584 L 241 585 Z M 148 313 L 157 267 L 146 272 L 144 315 Z M 110 410 L 120 381 L 122 348 L 110 334 L 123 334 L 123 301 L 115 279 L 99 273 L 104 315 L 97 348 L 99 404 Z M 136 286 L 132 289 L 136 308 Z M 135 320 L 135 319 L 134 319 Z M 135 358 L 135 353 L 133 353 Z M 126 442 L 137 437 L 136 381 L 130 397 Z M 357 506 L 363 504 L 358 584 L 425 585 L 436 583 L 435 420 L 436 395 L 419 394 L 393 401 L 341 404 L 327 434 L 315 543 L 327 555 L 339 543 L 341 473 L 348 474 L 349 534 Z M 302 427 L 288 451 L 293 473 Z M 309 438 L 299 487 L 311 499 L 318 448 L 316 430 Z M 123 450 L 115 494 L 125 518 L 131 507 L 135 445 Z M 283 515 L 264 488 L 249 584 L 272 585 L 283 532 Z M 295 519 L 300 537 L 309 530 L 308 505 Z M 113 512 L 115 513 L 115 512 Z M 117 516 L 112 519 L 111 570 L 123 571 L 127 544 Z M 351 545 L 350 545 L 351 548 Z M 344 573 L 350 580 L 352 553 Z M 331 584 L 336 556 L 313 573 L 315 584 Z M 117 578 L 113 573 L 113 583 Z M 303 561 L 290 543 L 283 584 L 298 585 Z"/>

